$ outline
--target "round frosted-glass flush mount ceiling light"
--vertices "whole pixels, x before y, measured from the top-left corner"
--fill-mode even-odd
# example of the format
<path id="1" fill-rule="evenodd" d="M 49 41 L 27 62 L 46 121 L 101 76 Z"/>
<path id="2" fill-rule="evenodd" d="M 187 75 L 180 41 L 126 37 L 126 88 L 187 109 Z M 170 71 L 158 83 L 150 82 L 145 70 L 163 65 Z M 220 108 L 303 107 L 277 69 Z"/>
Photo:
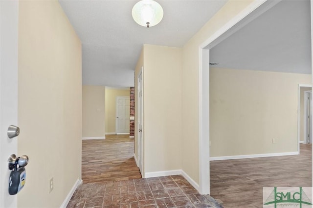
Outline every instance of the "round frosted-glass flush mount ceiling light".
<path id="1" fill-rule="evenodd" d="M 154 0 L 141 0 L 134 5 L 132 16 L 139 25 L 152 27 L 162 20 L 163 9 L 161 5 Z"/>

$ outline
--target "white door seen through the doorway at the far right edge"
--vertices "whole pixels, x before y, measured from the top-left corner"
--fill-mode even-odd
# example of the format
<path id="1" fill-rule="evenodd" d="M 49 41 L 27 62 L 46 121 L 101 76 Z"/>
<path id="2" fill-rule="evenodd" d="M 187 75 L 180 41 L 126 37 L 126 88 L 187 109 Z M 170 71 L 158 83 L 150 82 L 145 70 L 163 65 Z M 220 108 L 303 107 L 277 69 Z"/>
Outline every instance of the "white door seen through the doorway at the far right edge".
<path id="1" fill-rule="evenodd" d="M 312 91 L 305 91 L 305 143 L 312 143 Z"/>

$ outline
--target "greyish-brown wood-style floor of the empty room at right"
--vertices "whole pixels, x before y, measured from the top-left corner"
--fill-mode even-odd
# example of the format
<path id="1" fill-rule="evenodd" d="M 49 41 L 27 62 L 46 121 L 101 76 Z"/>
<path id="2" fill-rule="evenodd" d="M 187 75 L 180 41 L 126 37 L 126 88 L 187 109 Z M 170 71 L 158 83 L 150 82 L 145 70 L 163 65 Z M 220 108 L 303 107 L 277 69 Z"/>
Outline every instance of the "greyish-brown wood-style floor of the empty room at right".
<path id="1" fill-rule="evenodd" d="M 263 187 L 312 187 L 312 145 L 300 155 L 210 161 L 210 193 L 224 208 L 262 208 Z"/>

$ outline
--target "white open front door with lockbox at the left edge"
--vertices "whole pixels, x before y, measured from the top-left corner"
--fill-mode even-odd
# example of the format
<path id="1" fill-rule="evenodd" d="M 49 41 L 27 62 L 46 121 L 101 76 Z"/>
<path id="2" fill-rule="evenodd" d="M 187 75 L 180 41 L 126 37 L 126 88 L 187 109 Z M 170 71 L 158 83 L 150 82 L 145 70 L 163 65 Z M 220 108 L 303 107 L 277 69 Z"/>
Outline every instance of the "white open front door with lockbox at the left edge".
<path id="1" fill-rule="evenodd" d="M 18 139 L 9 139 L 7 129 L 18 122 L 18 26 L 19 1 L 0 0 L 0 208 L 17 207 L 17 195 L 8 192 L 7 160 L 18 153 Z"/>

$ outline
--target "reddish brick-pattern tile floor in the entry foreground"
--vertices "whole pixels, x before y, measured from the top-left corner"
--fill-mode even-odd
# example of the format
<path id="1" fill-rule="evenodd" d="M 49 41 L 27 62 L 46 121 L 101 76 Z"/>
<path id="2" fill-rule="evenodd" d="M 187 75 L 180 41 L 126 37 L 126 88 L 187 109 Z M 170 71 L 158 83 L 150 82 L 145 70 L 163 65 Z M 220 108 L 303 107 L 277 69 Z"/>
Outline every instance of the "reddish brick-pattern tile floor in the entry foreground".
<path id="1" fill-rule="evenodd" d="M 223 208 L 181 175 L 142 178 L 77 188 L 67 208 Z"/>

